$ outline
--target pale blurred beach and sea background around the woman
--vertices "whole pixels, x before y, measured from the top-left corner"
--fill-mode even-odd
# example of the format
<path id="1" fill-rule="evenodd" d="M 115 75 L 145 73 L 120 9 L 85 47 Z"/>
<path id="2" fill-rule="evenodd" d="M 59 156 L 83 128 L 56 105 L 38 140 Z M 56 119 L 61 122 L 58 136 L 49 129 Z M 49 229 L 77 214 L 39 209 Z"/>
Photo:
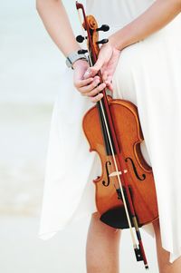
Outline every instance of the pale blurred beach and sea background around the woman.
<path id="1" fill-rule="evenodd" d="M 63 3 L 79 34 L 75 1 Z M 0 271 L 85 273 L 90 219 L 52 239 L 38 238 L 52 107 L 64 57 L 45 32 L 33 0 L 1 0 L 0 6 Z M 122 237 L 121 272 L 144 272 L 129 233 Z M 144 232 L 143 239 L 150 272 L 157 273 L 154 240 Z"/>

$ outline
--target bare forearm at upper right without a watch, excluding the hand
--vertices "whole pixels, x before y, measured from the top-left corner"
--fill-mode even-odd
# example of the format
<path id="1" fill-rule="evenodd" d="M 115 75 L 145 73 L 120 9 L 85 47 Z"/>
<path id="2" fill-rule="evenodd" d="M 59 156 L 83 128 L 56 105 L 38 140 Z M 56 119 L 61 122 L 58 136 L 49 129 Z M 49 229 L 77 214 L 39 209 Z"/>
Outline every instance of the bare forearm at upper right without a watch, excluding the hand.
<path id="1" fill-rule="evenodd" d="M 137 19 L 110 36 L 110 43 L 119 50 L 157 32 L 181 11 L 180 0 L 157 0 Z"/>

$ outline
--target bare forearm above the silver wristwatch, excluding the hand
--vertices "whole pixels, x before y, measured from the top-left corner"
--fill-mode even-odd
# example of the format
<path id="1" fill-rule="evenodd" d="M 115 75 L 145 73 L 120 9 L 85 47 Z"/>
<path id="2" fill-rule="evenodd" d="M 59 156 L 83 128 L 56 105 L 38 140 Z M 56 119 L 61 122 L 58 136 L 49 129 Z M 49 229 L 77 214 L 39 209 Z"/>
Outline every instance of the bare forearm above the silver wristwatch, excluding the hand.
<path id="1" fill-rule="evenodd" d="M 71 24 L 60 0 L 36 0 L 37 11 L 52 40 L 67 56 L 80 49 L 73 35 Z"/>

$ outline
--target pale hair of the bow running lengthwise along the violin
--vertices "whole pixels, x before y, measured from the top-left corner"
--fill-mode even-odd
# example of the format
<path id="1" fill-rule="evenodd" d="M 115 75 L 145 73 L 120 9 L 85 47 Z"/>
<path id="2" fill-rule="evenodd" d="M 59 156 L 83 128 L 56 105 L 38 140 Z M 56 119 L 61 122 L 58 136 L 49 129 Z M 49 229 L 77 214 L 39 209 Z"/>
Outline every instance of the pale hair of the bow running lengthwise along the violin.
<path id="1" fill-rule="evenodd" d="M 81 13 L 80 13 L 79 10 L 77 10 L 77 11 L 78 11 L 78 16 L 79 16 L 79 21 L 80 21 L 80 24 L 81 24 Z M 81 24 L 81 32 L 82 32 L 82 36 L 84 37 L 84 41 L 86 41 L 86 34 L 85 34 L 85 30 L 84 30 L 82 24 Z M 87 39 L 89 39 L 89 37 L 87 37 Z M 88 48 L 88 43 L 86 43 L 86 44 L 87 44 L 87 48 Z M 89 54 L 90 66 L 93 66 L 93 64 L 91 62 L 91 58 L 90 58 L 90 49 L 89 48 L 88 48 L 88 54 Z M 112 153 L 112 157 L 113 157 L 113 161 L 114 161 L 114 165 L 115 165 L 115 169 L 116 169 L 116 173 L 117 173 L 117 178 L 118 178 L 118 181 L 119 181 L 119 189 L 120 189 L 120 192 L 121 192 L 123 204 L 124 204 L 124 207 L 125 207 L 125 211 L 126 211 L 126 215 L 127 215 L 127 219 L 128 219 L 128 223 L 129 223 L 129 231 L 130 231 L 131 239 L 132 239 L 132 242 L 133 242 L 133 247 L 134 247 L 134 249 L 136 249 L 137 248 L 137 243 L 136 243 L 136 239 L 135 239 L 135 236 L 134 236 L 133 228 L 131 226 L 131 221 L 130 221 L 130 217 L 129 217 L 129 209 L 128 209 L 127 201 L 126 201 L 125 194 L 124 194 L 124 191 L 123 191 L 123 187 L 122 187 L 122 184 L 121 184 L 121 180 L 120 180 L 120 177 L 119 177 L 119 168 L 118 168 L 118 164 L 117 164 L 117 161 L 116 161 L 116 158 L 115 158 L 113 145 L 112 145 L 112 142 L 111 142 L 111 139 L 110 139 L 110 131 L 109 131 L 108 123 L 107 123 L 107 120 L 106 120 L 106 115 L 105 115 L 101 100 L 100 100 L 100 109 L 101 109 L 101 112 L 103 114 L 103 120 L 104 120 L 104 123 L 106 125 L 106 131 L 107 131 L 108 137 L 109 137 L 110 150 L 111 150 L 111 153 Z"/>

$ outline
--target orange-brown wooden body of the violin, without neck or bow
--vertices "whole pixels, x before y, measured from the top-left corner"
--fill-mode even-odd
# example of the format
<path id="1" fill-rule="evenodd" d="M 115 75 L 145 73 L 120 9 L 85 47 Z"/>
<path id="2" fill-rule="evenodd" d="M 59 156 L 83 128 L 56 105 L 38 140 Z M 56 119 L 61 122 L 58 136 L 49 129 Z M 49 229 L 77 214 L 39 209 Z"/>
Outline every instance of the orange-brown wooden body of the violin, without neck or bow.
<path id="1" fill-rule="evenodd" d="M 140 150 L 140 143 L 144 138 L 138 119 L 138 110 L 135 104 L 125 100 L 109 99 L 109 105 L 119 151 L 126 163 L 129 191 L 140 227 L 157 219 L 158 214 L 152 168 L 145 161 Z M 90 151 L 97 151 L 101 161 L 102 173 L 94 180 L 95 200 L 100 219 L 114 228 L 129 228 L 124 204 L 115 190 L 117 177 L 111 176 L 115 170 L 114 161 L 112 155 L 108 155 L 105 151 L 100 116 L 96 106 L 84 115 L 82 127 L 90 143 Z"/>

